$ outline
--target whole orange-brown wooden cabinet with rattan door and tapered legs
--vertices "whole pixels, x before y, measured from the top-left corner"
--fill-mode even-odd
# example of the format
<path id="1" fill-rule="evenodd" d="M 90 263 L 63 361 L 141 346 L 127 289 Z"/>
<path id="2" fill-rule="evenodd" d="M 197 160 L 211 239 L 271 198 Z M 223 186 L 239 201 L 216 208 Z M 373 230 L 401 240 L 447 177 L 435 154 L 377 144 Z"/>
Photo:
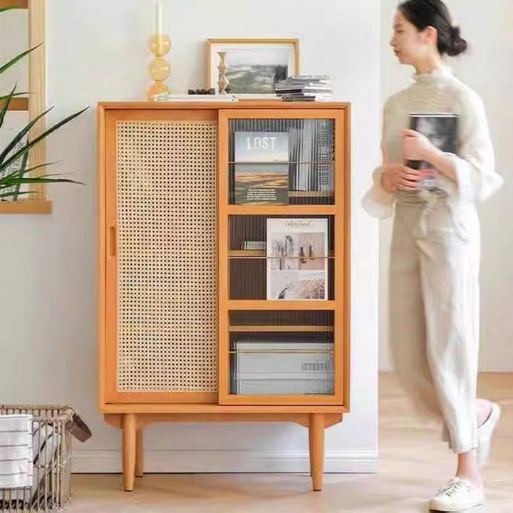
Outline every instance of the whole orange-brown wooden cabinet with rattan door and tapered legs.
<path id="1" fill-rule="evenodd" d="M 123 432 L 126 490 L 142 431 L 167 421 L 299 423 L 322 488 L 324 430 L 349 411 L 349 118 L 338 102 L 98 105 L 99 405 Z M 331 144 L 314 154 L 333 189 L 234 202 L 237 132 L 292 131 Z M 323 261 L 323 301 L 266 299 L 274 219 L 323 225 L 298 253 Z"/>

